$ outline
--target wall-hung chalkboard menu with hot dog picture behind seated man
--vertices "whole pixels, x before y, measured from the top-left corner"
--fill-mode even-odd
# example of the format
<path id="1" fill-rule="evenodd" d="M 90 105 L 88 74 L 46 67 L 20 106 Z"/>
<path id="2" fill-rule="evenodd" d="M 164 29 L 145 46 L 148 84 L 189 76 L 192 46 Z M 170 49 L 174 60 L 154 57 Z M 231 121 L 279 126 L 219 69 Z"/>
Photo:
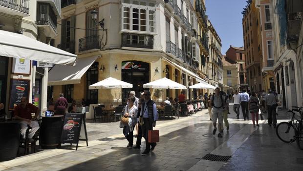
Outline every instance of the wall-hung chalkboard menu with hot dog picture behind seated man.
<path id="1" fill-rule="evenodd" d="M 15 105 L 21 103 L 23 97 L 29 98 L 29 79 L 11 79 L 9 110 L 14 110 Z"/>

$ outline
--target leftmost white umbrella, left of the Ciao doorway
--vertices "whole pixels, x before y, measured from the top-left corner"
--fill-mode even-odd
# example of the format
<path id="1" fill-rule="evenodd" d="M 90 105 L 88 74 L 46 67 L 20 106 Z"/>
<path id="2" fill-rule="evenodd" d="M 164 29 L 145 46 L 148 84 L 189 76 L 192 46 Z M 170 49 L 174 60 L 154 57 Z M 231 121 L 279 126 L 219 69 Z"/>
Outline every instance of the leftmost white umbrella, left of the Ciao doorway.
<path id="1" fill-rule="evenodd" d="M 108 77 L 102 81 L 94 83 L 88 87 L 89 90 L 94 89 L 121 89 L 132 88 L 132 84 L 118 80 L 116 78 Z"/>

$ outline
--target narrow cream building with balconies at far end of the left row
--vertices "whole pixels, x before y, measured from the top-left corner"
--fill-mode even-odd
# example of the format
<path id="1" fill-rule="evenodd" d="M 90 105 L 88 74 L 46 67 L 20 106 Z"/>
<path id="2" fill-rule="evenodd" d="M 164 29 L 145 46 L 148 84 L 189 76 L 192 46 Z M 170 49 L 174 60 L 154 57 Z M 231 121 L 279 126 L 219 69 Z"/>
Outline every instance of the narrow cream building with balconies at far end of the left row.
<path id="1" fill-rule="evenodd" d="M 215 87 L 220 87 L 222 90 L 223 85 L 223 64 L 221 53 L 221 39 L 218 36 L 213 24 L 208 20 L 208 43 L 209 43 L 209 57 L 207 58 L 208 66 L 208 79 L 210 84 Z"/>

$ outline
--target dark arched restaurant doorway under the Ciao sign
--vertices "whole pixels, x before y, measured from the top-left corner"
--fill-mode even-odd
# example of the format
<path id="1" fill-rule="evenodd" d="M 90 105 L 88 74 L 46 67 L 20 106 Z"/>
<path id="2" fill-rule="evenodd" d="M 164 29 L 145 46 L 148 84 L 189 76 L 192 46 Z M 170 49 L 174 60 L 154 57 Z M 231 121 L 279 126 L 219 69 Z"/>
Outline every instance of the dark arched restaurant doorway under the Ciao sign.
<path id="1" fill-rule="evenodd" d="M 141 61 L 123 61 L 121 74 L 122 81 L 132 84 L 131 89 L 122 89 L 122 104 L 125 105 L 130 91 L 135 91 L 136 97 L 140 98 L 140 93 L 144 90 L 143 84 L 150 80 L 150 64 Z"/>

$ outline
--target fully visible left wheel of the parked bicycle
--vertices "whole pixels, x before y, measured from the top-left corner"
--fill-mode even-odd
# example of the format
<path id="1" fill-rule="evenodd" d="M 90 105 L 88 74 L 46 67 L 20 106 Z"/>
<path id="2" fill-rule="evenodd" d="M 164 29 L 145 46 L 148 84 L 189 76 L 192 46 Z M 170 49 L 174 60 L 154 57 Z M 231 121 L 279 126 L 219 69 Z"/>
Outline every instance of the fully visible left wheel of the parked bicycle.
<path id="1" fill-rule="evenodd" d="M 296 135 L 294 126 L 289 122 L 281 122 L 277 125 L 276 133 L 278 138 L 284 143 L 291 143 Z"/>

